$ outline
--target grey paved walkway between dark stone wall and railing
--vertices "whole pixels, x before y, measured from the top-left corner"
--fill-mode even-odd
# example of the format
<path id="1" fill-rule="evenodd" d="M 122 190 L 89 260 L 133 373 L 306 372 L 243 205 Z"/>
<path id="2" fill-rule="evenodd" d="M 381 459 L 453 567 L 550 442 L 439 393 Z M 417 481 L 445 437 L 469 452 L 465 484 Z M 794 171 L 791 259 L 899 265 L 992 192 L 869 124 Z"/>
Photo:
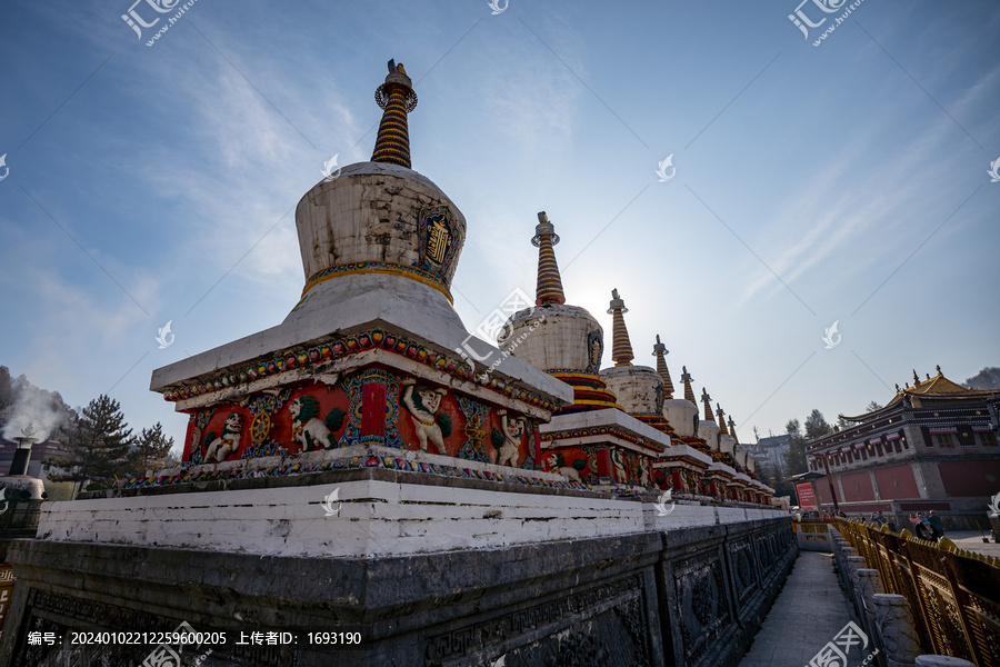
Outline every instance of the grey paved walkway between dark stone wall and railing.
<path id="1" fill-rule="evenodd" d="M 739 667 L 803 667 L 852 618 L 833 555 L 801 551 Z"/>

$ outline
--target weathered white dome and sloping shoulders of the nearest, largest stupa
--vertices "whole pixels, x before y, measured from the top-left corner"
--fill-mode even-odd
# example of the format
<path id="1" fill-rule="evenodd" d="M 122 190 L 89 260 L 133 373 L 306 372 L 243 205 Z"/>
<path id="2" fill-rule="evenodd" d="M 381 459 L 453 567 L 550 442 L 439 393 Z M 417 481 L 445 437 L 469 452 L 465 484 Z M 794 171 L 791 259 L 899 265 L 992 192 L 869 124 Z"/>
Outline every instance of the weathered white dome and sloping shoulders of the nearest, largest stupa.
<path id="1" fill-rule="evenodd" d="M 440 213 L 446 208 L 448 233 L 442 236 L 447 247 L 441 249 L 441 261 L 434 262 L 429 260 L 434 249 L 421 246 L 421 239 L 428 238 L 421 223 L 433 218 L 428 212 Z M 461 351 L 474 351 L 476 357 L 496 362 L 493 378 L 529 388 L 554 404 L 572 401 L 572 389 L 560 380 L 516 357 L 504 357 L 467 331 L 449 291 L 466 237 L 466 219 L 429 178 L 397 165 L 349 165 L 337 178 L 319 182 L 302 197 L 296 227 L 307 285 L 284 321 L 154 370 L 152 390 L 169 395 L 184 385 L 211 382 L 229 368 L 276 352 L 381 327 L 459 360 Z M 198 408 L 278 386 L 289 374 L 294 371 L 217 387 L 177 400 L 176 407 Z M 520 407 L 502 397 L 499 402 Z M 544 417 L 541 412 L 534 416 Z"/>

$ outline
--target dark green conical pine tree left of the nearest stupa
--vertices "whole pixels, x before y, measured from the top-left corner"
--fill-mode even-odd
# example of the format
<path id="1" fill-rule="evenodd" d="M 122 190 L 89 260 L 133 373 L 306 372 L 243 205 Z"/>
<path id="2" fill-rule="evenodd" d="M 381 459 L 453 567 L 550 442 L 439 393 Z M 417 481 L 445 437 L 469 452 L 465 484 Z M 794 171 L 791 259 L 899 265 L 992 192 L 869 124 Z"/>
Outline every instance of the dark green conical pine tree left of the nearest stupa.
<path id="1" fill-rule="evenodd" d="M 107 480 L 126 474 L 133 441 L 121 405 L 102 394 L 77 418 L 64 442 L 68 455 L 46 461 L 66 470 L 49 478 L 53 481 Z"/>

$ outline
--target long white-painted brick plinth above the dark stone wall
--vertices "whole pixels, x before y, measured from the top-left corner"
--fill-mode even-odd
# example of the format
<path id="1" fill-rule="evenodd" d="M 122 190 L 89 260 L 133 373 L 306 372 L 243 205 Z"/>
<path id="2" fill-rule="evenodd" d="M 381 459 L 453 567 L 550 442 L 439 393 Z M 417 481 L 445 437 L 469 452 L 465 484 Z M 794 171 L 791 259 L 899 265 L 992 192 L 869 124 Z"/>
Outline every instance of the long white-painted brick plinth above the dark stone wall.
<path id="1" fill-rule="evenodd" d="M 334 516 L 324 499 L 338 490 Z M 390 482 L 163 494 L 50 502 L 39 538 L 273 556 L 364 557 L 496 548 L 628 535 L 656 527 L 786 516 L 767 509 L 677 506 L 594 495 Z"/>

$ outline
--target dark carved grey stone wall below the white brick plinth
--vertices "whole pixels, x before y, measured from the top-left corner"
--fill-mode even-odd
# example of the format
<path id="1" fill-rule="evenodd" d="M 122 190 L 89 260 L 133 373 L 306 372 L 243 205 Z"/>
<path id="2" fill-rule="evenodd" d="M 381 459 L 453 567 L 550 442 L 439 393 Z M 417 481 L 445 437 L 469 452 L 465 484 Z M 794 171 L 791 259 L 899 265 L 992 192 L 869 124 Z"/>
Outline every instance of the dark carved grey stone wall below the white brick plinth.
<path id="1" fill-rule="evenodd" d="M 359 629 L 360 648 L 213 647 L 207 665 L 736 665 L 797 554 L 787 519 L 502 549 L 296 558 L 18 541 L 0 665 L 140 665 L 29 630 Z M 241 620 L 238 620 L 241 619 Z M 102 661 L 107 659 L 107 661 Z M 76 660 L 76 661 L 74 661 Z M 93 660 L 98 660 L 93 663 Z M 331 661 L 332 660 L 332 661 Z"/>

